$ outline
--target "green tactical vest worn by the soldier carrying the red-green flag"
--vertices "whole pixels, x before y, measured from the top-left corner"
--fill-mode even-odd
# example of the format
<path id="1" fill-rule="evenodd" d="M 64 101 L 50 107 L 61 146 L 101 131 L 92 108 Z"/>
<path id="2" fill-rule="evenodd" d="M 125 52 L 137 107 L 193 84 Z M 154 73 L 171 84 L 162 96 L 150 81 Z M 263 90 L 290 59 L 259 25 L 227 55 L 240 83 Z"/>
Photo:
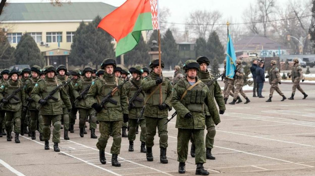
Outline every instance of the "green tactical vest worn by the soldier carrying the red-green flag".
<path id="1" fill-rule="evenodd" d="M 168 85 L 166 85 L 165 79 L 166 78 L 163 77 L 163 82 L 161 83 L 162 84 L 162 102 L 164 102 L 167 98 Z M 149 91 L 146 91 L 146 97 L 148 97 L 157 86 L 153 86 Z M 154 94 L 152 94 L 152 96 L 147 100 L 146 103 L 152 106 L 160 105 L 160 90 L 157 89 L 157 91 L 155 91 Z"/>

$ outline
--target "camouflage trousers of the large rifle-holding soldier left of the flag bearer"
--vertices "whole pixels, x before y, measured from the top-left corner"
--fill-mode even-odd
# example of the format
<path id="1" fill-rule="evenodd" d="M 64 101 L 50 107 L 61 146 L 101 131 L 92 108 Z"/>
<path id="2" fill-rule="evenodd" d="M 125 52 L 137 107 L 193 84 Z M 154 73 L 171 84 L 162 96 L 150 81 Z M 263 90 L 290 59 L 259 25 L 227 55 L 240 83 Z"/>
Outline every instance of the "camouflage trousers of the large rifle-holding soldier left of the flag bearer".
<path id="1" fill-rule="evenodd" d="M 109 134 L 113 135 L 113 144 L 111 148 L 111 154 L 119 154 L 121 147 L 121 122 L 122 121 L 100 121 L 100 138 L 96 143 L 96 147 L 104 151 L 109 139 Z M 112 130 L 111 130 L 112 129 Z"/>

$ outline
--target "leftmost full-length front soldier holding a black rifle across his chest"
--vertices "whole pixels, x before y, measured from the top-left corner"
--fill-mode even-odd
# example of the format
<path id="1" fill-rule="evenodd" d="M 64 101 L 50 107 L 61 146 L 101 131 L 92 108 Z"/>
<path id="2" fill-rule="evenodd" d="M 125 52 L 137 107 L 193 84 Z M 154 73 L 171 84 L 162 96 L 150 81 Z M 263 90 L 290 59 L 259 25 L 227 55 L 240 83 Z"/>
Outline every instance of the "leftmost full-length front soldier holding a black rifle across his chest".
<path id="1" fill-rule="evenodd" d="M 24 84 L 18 80 L 19 72 L 15 69 L 11 70 L 9 73 L 9 80 L 3 82 L 0 87 L 0 100 L 3 104 L 2 110 L 5 111 L 6 116 L 6 131 L 7 131 L 7 141 L 12 140 L 12 119 L 14 120 L 14 133 L 15 143 L 20 143 L 19 134 L 21 131 L 21 111 L 26 111 L 26 101 L 25 92 L 23 90 Z M 14 97 L 7 99 L 15 90 L 20 89 Z"/>

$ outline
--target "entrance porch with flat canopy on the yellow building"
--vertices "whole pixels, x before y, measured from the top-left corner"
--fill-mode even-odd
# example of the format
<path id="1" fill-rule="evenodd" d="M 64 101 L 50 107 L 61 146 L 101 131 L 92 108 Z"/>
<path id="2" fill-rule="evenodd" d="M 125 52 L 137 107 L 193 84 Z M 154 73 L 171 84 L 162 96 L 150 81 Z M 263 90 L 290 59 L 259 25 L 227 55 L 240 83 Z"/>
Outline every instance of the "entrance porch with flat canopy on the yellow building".
<path id="1" fill-rule="evenodd" d="M 45 57 L 45 65 L 53 65 L 55 68 L 58 65 L 66 65 L 68 68 L 68 56 L 70 50 L 57 48 L 44 51 L 42 54 Z"/>

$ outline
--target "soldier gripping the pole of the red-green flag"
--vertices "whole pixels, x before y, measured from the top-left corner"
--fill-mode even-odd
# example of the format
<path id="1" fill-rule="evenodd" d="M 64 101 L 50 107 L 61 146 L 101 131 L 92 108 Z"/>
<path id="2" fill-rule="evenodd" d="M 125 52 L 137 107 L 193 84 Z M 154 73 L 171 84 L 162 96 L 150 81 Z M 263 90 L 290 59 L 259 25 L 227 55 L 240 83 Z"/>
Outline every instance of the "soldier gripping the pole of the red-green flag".
<path id="1" fill-rule="evenodd" d="M 161 67 L 164 68 L 164 63 L 161 61 Z M 152 147 L 154 145 L 154 136 L 156 129 L 160 137 L 160 162 L 168 163 L 166 157 L 166 148 L 168 147 L 167 140 L 167 122 L 168 110 L 172 109 L 170 103 L 172 95 L 172 83 L 162 75 L 162 68 L 159 67 L 159 60 L 153 60 L 150 63 L 152 69 L 150 76 L 143 78 L 141 86 L 145 92 L 146 102 L 143 116 L 146 119 L 146 160 L 153 161 Z M 161 77 L 159 74 L 161 73 Z M 162 87 L 162 104 L 160 105 L 159 84 Z"/>

